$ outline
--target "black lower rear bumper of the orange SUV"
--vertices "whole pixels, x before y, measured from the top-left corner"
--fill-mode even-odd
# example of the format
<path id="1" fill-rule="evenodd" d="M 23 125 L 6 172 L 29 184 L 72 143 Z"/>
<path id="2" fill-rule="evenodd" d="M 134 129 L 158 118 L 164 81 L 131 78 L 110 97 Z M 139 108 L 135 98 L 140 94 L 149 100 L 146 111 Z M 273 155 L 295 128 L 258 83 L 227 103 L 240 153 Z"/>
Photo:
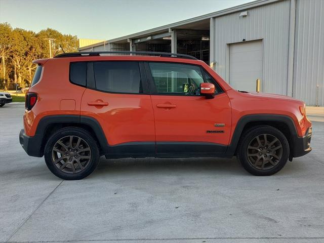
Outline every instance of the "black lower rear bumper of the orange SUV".
<path id="1" fill-rule="evenodd" d="M 22 129 L 19 133 L 19 142 L 29 156 L 43 157 L 44 152 L 41 149 L 42 138 L 39 136 L 35 135 L 33 137 L 29 137 Z"/>

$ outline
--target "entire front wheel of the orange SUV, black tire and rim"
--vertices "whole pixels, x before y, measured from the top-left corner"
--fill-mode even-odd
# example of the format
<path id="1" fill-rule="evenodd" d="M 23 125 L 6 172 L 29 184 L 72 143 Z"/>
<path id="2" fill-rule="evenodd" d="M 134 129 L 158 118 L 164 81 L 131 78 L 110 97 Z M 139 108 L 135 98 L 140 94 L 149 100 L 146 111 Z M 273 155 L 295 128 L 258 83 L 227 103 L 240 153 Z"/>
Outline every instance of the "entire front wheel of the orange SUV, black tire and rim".
<path id="1" fill-rule="evenodd" d="M 266 135 L 265 139 L 260 139 L 264 135 Z M 268 139 L 272 139 L 272 142 L 275 141 L 274 145 L 271 145 L 272 142 L 264 142 L 268 141 Z M 258 146 L 260 142 L 261 146 Z M 254 149 L 256 147 L 258 147 L 258 150 Z M 273 151 L 273 149 L 277 150 Z M 256 126 L 242 134 L 237 145 L 236 157 L 244 169 L 252 175 L 270 176 L 280 171 L 286 165 L 289 158 L 289 143 L 286 136 L 278 129 L 265 125 Z M 265 168 L 265 165 L 268 165 L 268 168 Z"/>

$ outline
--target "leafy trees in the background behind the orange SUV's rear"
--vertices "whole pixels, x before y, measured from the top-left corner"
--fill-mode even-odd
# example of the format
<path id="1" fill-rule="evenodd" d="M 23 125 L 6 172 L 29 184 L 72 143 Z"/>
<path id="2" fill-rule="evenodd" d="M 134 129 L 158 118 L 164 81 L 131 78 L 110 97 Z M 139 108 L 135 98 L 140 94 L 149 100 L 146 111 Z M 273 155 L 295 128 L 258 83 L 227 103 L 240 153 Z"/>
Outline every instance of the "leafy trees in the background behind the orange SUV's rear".
<path id="1" fill-rule="evenodd" d="M 32 61 L 50 57 L 49 41 L 45 38 L 55 39 L 51 42 L 52 56 L 63 53 L 63 50 L 77 52 L 75 35 L 62 34 L 51 28 L 35 33 L 21 28 L 13 29 L 8 23 L 0 23 L 0 89 L 1 85 L 6 86 L 5 89 L 14 87 L 15 74 L 20 88 L 29 86 L 36 69 L 36 64 Z"/>

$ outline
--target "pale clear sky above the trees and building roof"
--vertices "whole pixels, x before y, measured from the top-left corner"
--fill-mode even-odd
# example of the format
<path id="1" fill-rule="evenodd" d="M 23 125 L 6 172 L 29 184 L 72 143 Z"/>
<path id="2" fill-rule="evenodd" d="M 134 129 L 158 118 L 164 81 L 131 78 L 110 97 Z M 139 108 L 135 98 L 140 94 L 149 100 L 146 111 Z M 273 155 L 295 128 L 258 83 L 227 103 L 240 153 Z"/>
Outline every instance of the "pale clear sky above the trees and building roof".
<path id="1" fill-rule="evenodd" d="M 248 2 L 252 0 L 0 0 L 0 22 L 107 40 Z"/>

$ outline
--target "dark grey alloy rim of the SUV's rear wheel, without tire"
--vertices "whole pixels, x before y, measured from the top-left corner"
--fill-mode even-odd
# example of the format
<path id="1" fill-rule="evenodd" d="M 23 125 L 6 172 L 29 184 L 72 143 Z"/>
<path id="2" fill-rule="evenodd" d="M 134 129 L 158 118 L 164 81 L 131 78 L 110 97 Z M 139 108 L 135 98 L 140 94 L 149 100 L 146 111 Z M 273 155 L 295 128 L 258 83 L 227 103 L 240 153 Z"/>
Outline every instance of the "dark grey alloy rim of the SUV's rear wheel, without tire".
<path id="1" fill-rule="evenodd" d="M 90 160 L 90 146 L 78 136 L 62 137 L 53 146 L 53 164 L 62 172 L 74 174 L 83 171 Z"/>

